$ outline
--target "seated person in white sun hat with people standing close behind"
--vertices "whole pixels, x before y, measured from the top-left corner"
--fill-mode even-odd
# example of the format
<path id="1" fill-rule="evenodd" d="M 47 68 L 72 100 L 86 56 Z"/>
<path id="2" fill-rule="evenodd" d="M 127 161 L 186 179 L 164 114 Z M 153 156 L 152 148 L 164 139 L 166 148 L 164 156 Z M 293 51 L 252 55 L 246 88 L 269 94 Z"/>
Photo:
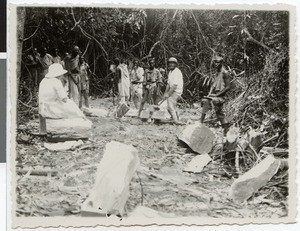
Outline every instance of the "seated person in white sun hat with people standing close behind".
<path id="1" fill-rule="evenodd" d="M 46 135 L 46 119 L 85 118 L 81 108 L 89 107 L 89 65 L 78 46 L 62 59 L 58 49 L 53 56 L 47 49 L 33 50 L 30 72 L 39 85 L 40 134 Z M 84 100 L 84 102 L 83 102 Z"/>

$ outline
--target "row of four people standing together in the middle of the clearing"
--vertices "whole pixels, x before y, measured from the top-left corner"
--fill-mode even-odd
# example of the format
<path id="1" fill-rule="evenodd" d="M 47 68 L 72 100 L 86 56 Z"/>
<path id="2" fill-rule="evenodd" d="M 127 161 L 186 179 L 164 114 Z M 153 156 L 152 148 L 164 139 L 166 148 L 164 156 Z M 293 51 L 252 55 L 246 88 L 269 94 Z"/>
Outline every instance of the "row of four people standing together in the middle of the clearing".
<path id="1" fill-rule="evenodd" d="M 158 105 L 167 101 L 168 111 L 174 123 L 180 123 L 176 104 L 183 91 L 183 75 L 177 67 L 178 61 L 172 57 L 168 60 L 167 86 L 164 87 L 164 69 L 155 67 L 155 59 L 148 61 L 148 67 L 144 70 L 139 60 L 133 61 L 133 67 L 128 68 L 125 60 L 115 59 L 111 71 L 115 73 L 113 80 L 117 80 L 120 103 L 130 104 L 139 111 L 139 116 L 144 109 L 145 103 Z M 165 93 L 162 93 L 165 88 Z"/>

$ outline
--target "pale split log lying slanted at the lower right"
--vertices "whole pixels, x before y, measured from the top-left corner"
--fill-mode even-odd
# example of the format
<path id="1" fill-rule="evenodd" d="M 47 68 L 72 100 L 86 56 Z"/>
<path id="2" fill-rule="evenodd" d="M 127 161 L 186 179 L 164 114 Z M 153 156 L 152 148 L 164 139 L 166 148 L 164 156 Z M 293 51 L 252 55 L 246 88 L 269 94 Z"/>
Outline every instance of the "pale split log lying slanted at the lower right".
<path id="1" fill-rule="evenodd" d="M 280 160 L 272 155 L 267 156 L 233 182 L 230 197 L 236 202 L 246 201 L 276 174 L 280 165 Z"/>

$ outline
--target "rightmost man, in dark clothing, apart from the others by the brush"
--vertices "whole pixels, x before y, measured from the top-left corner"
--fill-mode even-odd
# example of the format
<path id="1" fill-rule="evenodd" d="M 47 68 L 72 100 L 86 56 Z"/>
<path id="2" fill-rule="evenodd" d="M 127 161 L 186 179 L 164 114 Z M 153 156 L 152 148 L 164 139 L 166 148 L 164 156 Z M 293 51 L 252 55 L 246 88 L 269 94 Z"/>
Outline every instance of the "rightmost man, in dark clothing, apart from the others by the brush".
<path id="1" fill-rule="evenodd" d="M 214 106 L 216 117 L 220 121 L 224 135 L 229 129 L 228 122 L 225 118 L 223 105 L 226 101 L 226 93 L 230 90 L 230 76 L 223 67 L 223 58 L 216 56 L 213 59 L 213 67 L 216 69 L 216 78 L 212 83 L 208 96 L 202 100 L 202 114 L 200 122 L 203 123 L 206 113 Z"/>

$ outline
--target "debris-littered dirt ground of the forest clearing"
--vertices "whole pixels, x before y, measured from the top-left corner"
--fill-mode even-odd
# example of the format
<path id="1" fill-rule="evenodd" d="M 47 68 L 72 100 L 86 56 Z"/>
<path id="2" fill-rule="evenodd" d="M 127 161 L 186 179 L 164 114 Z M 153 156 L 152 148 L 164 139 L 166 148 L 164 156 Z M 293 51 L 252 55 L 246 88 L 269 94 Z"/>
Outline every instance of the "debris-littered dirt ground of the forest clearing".
<path id="1" fill-rule="evenodd" d="M 92 100 L 91 105 L 109 110 L 113 108 L 111 99 Z M 198 109 L 186 109 L 181 113 L 184 119 L 197 116 Z M 141 166 L 130 185 L 127 216 L 141 204 L 178 216 L 287 216 L 287 198 L 275 200 L 267 188 L 261 189 L 246 203 L 234 203 L 228 195 L 236 176 L 229 174 L 222 160 L 216 158 L 220 150 L 214 149 L 211 153 L 214 160 L 200 174 L 183 172 L 186 164 L 197 155 L 177 139 L 184 126 L 149 124 L 131 117 L 89 119 L 93 122 L 92 141 L 84 141 L 82 147 L 64 152 L 49 151 L 43 147 L 41 138 L 26 135 L 26 131 L 38 130 L 37 120 L 21 126 L 18 136 L 27 136 L 28 141 L 17 145 L 18 169 L 55 169 L 58 173 L 54 176 L 18 173 L 18 216 L 80 216 L 80 206 L 93 186 L 105 144 L 112 140 L 132 144 L 139 151 Z M 221 128 L 212 130 L 218 143 L 222 140 Z"/>

